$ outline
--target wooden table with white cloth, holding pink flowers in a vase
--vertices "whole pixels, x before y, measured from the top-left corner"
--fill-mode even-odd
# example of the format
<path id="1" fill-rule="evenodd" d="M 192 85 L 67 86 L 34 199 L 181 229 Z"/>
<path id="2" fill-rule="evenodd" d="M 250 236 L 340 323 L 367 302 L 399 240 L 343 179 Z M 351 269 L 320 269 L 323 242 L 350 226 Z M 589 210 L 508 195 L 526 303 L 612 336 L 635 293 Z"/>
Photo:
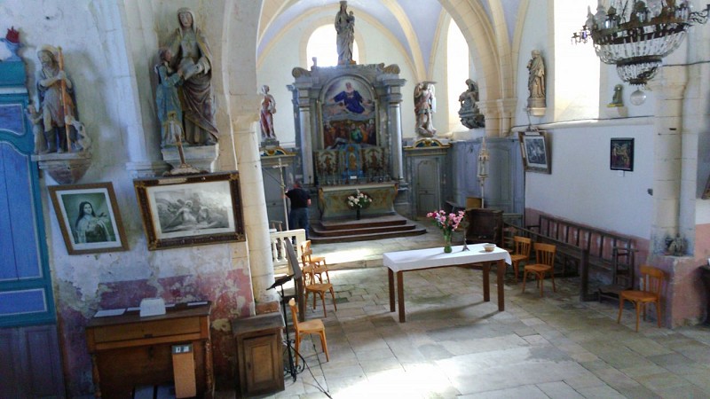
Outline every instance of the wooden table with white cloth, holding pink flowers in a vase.
<path id="1" fill-rule="evenodd" d="M 383 264 L 388 268 L 390 283 L 390 312 L 394 311 L 394 273 L 397 273 L 397 301 L 399 303 L 399 322 L 405 320 L 405 288 L 402 273 L 409 270 L 445 268 L 449 266 L 474 265 L 483 269 L 483 299 L 491 301 L 491 287 L 488 274 L 491 262 L 498 262 L 498 310 L 505 310 L 503 293 L 503 277 L 505 263 L 510 264 L 510 254 L 498 246 L 493 252 L 485 252 L 483 244 L 469 245 L 469 251 L 461 251 L 463 246 L 453 246 L 450 254 L 444 253 L 444 248 L 415 249 L 411 251 L 388 252 L 383 254 Z"/>

